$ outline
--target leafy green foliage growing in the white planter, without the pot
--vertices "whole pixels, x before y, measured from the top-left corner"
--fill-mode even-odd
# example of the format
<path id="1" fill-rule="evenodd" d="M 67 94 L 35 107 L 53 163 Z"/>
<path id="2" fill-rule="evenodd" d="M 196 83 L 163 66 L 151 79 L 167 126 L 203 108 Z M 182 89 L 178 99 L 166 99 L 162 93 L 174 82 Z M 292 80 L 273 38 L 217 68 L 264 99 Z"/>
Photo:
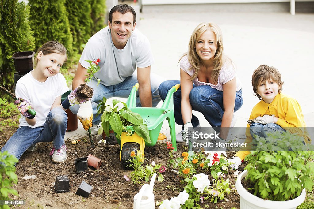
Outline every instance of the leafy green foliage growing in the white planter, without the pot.
<path id="1" fill-rule="evenodd" d="M 259 144 L 261 149 L 268 147 L 267 141 L 276 138 L 277 145 L 290 143 L 292 149 L 300 148 L 303 137 L 296 134 L 271 133 L 265 140 L 265 145 Z M 264 138 L 257 137 L 257 141 Z M 263 147 L 265 146 L 265 147 Z M 269 148 L 269 147 L 268 147 Z M 263 199 L 285 201 L 294 199 L 306 188 L 311 191 L 313 180 L 310 174 L 314 172 L 313 151 L 254 151 L 246 156 L 248 173 L 245 180 L 252 185 L 252 193 Z M 312 145 L 307 146 L 313 150 Z M 280 149 L 280 148 L 278 148 Z M 297 149 L 295 149 L 297 150 Z M 300 149 L 299 149 L 300 150 Z"/>

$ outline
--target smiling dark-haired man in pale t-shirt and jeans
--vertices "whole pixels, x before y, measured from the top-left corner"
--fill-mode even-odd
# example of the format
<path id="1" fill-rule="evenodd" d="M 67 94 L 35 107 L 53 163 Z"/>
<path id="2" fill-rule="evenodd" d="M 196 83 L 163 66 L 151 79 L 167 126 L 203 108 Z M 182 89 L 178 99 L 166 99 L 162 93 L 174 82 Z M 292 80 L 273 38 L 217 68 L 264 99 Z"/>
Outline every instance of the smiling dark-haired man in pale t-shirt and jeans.
<path id="1" fill-rule="evenodd" d="M 89 63 L 85 60 L 100 59 L 100 70 L 94 75 L 100 84 L 95 79 L 88 83 L 94 89 L 91 102 L 71 108 L 85 130 L 92 127 L 93 118 L 94 124 L 100 123 L 101 115 L 96 117 L 96 109 L 103 97 L 127 98 L 137 82 L 137 106 L 156 107 L 161 100 L 158 87 L 163 79 L 150 74 L 154 59 L 148 39 L 135 28 L 135 11 L 127 4 L 116 5 L 108 19 L 108 26 L 88 40 L 72 83 L 75 89 L 87 78 Z"/>

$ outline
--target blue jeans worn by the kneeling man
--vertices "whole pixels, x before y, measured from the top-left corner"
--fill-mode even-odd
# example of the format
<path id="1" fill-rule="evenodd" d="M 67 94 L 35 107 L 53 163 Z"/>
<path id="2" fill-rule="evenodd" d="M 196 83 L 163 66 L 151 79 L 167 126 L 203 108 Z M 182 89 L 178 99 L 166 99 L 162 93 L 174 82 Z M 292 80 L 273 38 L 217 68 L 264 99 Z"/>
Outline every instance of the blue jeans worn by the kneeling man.
<path id="1" fill-rule="evenodd" d="M 150 74 L 150 85 L 152 91 L 152 100 L 153 107 L 156 107 L 158 103 L 161 101 L 158 87 L 162 81 L 165 79 L 161 76 L 155 75 L 153 73 Z M 88 86 L 94 89 L 94 96 L 91 99 L 92 108 L 93 108 L 93 124 L 100 123 L 101 114 L 96 116 L 97 113 L 97 105 L 99 101 L 102 101 L 103 97 L 111 98 L 111 97 L 122 97 L 128 98 L 133 86 L 138 82 L 137 80 L 137 72 L 134 73 L 133 76 L 128 77 L 125 81 L 113 85 L 113 86 L 104 86 L 101 83 L 97 86 L 97 81 L 92 80 L 88 83 Z M 141 102 L 139 100 L 138 91 L 136 92 L 136 106 L 142 107 Z M 77 114 L 79 105 L 74 105 L 69 108 L 73 114 Z"/>

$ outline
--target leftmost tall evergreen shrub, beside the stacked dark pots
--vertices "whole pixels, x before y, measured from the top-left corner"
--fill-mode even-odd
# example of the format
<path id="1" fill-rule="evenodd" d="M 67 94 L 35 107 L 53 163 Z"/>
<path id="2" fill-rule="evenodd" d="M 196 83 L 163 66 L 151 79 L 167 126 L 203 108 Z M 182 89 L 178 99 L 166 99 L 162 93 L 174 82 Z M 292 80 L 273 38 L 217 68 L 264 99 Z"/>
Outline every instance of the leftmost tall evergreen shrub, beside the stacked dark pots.
<path id="1" fill-rule="evenodd" d="M 18 0 L 0 1 L 0 85 L 13 90 L 15 52 L 35 50 L 28 17 L 30 9 Z M 2 92 L 0 93 L 2 94 Z"/>

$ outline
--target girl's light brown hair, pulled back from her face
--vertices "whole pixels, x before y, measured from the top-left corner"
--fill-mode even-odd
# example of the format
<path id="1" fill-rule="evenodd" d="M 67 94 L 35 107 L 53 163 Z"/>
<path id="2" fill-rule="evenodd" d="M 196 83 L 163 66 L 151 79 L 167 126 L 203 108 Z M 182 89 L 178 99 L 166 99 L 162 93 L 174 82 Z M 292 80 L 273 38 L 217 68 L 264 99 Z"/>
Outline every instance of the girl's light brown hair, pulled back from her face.
<path id="1" fill-rule="evenodd" d="M 42 52 L 43 55 L 49 55 L 51 53 L 57 53 L 60 55 L 65 55 L 66 58 L 65 58 L 64 62 L 66 62 L 68 59 L 67 49 L 60 42 L 58 42 L 56 40 L 48 41 L 45 44 L 43 44 L 41 46 L 41 48 L 39 48 L 37 50 L 37 53 L 35 56 L 35 66 L 37 65 L 37 62 L 38 62 L 37 55 L 40 51 Z"/>

